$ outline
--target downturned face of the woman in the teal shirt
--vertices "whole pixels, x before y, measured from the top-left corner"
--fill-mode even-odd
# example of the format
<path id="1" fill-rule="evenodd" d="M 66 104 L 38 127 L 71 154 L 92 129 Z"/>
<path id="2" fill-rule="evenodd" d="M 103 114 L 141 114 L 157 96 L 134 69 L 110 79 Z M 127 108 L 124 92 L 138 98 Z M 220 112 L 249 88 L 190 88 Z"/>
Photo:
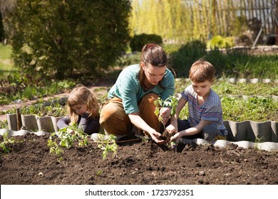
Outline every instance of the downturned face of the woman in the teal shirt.
<path id="1" fill-rule="evenodd" d="M 162 80 L 166 71 L 166 65 L 163 67 L 157 67 L 150 65 L 149 63 L 143 63 L 142 67 L 145 72 L 145 77 L 147 77 L 148 82 L 152 85 L 157 85 L 158 82 Z"/>

